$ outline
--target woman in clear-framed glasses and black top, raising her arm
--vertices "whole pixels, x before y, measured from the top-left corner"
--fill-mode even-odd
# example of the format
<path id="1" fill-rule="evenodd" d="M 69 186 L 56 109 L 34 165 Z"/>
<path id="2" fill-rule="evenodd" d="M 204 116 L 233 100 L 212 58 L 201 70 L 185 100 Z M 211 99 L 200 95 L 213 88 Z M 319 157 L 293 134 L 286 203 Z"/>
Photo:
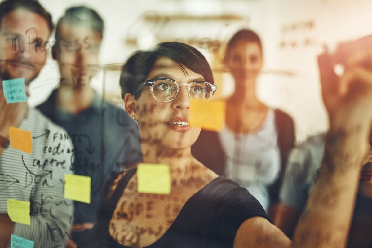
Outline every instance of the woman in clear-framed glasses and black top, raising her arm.
<path id="1" fill-rule="evenodd" d="M 201 129 L 189 126 L 190 99 L 209 100 L 216 89 L 213 81 L 205 81 L 212 80 L 205 58 L 177 42 L 133 54 L 120 80 L 125 109 L 139 123 L 144 162 L 169 165 L 171 190 L 140 193 L 137 168 L 114 177 L 93 229 L 78 247 L 345 247 L 358 183 L 360 216 L 371 216 L 365 207 L 372 199 L 372 68 L 371 55 L 363 52 L 371 41 L 343 46 L 347 51 L 341 59 L 340 52 L 319 57 L 330 131 L 293 242 L 246 189 L 191 154 Z M 341 60 L 346 71 L 337 77 L 333 65 Z M 363 230 L 369 224 L 351 229 L 354 238 L 362 234 L 357 247 L 371 247 L 370 228 Z"/>

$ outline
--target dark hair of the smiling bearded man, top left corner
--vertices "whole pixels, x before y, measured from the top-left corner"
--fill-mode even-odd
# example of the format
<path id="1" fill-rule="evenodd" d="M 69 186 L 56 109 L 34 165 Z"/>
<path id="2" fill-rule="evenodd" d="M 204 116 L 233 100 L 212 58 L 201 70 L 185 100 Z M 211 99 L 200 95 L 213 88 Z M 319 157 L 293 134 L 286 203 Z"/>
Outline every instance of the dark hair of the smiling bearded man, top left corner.
<path id="1" fill-rule="evenodd" d="M 16 9 L 26 9 L 42 16 L 48 23 L 49 32 L 53 30 L 52 17 L 39 3 L 38 0 L 5 0 L 0 3 L 0 27 L 1 21 L 7 13 Z"/>

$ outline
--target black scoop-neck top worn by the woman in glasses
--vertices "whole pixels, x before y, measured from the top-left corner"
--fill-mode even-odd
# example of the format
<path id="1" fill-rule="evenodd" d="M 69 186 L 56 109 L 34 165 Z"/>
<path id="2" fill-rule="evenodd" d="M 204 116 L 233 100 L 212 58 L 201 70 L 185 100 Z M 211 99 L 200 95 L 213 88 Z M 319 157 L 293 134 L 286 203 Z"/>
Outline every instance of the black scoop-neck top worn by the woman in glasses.
<path id="1" fill-rule="evenodd" d="M 112 238 L 109 223 L 136 171 L 137 168 L 129 170 L 119 181 L 110 199 L 102 204 L 93 229 L 80 240 L 78 248 L 126 248 Z M 254 216 L 270 221 L 261 204 L 246 189 L 217 177 L 190 197 L 166 233 L 146 248 L 233 247 L 241 223 Z"/>

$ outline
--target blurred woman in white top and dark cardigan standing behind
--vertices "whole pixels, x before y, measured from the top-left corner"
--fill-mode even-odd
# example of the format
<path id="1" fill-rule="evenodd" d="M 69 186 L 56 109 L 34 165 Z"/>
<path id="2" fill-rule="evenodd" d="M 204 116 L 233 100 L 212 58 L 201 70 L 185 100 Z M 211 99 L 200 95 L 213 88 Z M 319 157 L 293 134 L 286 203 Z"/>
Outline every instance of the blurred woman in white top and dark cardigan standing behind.
<path id="1" fill-rule="evenodd" d="M 226 100 L 225 128 L 219 133 L 202 130 L 192 154 L 217 174 L 245 187 L 272 217 L 275 211 L 270 207 L 278 202 L 282 171 L 295 142 L 293 120 L 256 95 L 263 55 L 255 32 L 235 33 L 224 62 L 235 80 L 235 91 Z"/>

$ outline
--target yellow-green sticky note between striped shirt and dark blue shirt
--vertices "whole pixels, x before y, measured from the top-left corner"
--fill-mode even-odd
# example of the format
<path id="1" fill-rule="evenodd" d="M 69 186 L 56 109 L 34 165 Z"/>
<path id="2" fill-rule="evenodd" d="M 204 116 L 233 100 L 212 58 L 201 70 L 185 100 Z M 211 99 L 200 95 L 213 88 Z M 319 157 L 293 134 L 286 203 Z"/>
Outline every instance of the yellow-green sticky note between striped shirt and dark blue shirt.
<path id="1" fill-rule="evenodd" d="M 65 174 L 64 197 L 78 202 L 90 203 L 91 179 L 84 175 Z"/>

